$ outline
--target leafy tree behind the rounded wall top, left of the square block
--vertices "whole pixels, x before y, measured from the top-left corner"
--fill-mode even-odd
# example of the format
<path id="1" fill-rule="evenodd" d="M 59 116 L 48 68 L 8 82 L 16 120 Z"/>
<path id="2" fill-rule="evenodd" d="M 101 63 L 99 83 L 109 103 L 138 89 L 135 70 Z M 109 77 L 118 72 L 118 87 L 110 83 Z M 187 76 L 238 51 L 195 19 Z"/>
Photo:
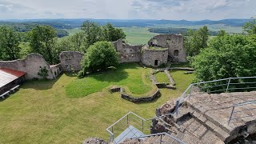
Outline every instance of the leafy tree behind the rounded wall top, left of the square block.
<path id="1" fill-rule="evenodd" d="M 58 50 L 55 47 L 57 32 L 53 27 L 35 26 L 29 36 L 32 52 L 42 54 L 50 64 L 58 62 Z"/>

